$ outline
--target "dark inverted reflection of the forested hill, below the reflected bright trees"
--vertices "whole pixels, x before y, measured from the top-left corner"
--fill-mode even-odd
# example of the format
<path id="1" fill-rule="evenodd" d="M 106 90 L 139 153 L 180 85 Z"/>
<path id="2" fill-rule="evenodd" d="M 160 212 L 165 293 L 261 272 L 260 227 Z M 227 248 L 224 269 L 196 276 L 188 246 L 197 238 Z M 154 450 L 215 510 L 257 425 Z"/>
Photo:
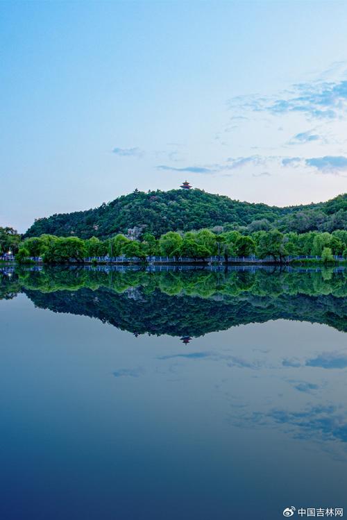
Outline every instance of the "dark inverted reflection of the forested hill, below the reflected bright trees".
<path id="1" fill-rule="evenodd" d="M 198 337 L 232 326 L 269 319 L 295 319 L 329 324 L 347 330 L 347 302 L 335 296 L 253 296 L 243 294 L 232 299 L 201 299 L 168 296 L 160 290 L 132 299 L 104 287 L 93 292 L 43 293 L 24 290 L 41 308 L 96 317 L 122 330 L 143 334 L 169 334 Z"/>

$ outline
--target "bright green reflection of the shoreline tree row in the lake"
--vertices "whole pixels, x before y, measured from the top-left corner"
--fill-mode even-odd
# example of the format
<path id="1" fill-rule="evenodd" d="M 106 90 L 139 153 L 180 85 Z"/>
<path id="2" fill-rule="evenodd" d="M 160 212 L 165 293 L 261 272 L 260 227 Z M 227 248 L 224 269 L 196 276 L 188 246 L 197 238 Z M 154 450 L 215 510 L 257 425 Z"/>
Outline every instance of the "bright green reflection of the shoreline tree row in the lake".
<path id="1" fill-rule="evenodd" d="M 347 270 L 334 271 L 334 269 L 281 271 L 274 268 L 251 271 L 240 268 L 233 271 L 187 269 L 148 272 L 139 269 L 101 271 L 83 269 L 83 267 L 51 267 L 41 270 L 17 269 L 15 277 L 26 289 L 42 292 L 75 291 L 83 287 L 96 290 L 107 287 L 117 293 L 123 293 L 126 290 L 131 292 L 138 287 L 144 294 L 159 289 L 160 292 L 168 295 L 201 298 L 236 296 L 244 292 L 257 296 L 278 294 L 347 296 Z"/>

